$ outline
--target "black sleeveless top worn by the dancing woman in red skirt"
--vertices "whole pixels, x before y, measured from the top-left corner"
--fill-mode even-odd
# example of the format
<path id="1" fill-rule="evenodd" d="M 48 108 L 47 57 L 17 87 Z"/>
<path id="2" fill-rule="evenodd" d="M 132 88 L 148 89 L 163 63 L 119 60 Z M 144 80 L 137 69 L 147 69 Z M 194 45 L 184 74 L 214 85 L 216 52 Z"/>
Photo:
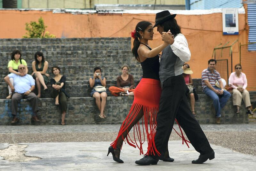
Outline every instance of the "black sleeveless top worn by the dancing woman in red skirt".
<path id="1" fill-rule="evenodd" d="M 144 44 L 144 43 L 141 43 Z M 144 44 L 148 47 L 148 45 Z M 151 51 L 152 49 L 148 47 L 148 49 Z M 151 78 L 155 80 L 160 80 L 159 78 L 159 55 L 156 55 L 153 58 L 147 58 L 143 62 L 140 62 L 140 65 L 142 67 L 142 78 Z"/>

